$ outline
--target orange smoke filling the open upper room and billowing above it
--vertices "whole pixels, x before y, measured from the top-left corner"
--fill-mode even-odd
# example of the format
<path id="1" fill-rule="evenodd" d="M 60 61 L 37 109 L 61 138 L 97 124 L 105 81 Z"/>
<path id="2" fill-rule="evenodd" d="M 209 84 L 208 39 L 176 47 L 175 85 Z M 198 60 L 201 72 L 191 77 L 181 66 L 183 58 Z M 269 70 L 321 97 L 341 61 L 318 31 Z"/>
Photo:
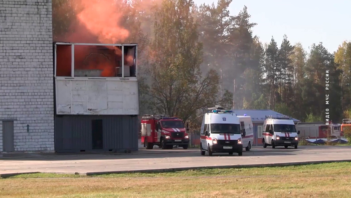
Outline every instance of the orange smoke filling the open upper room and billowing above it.
<path id="1" fill-rule="evenodd" d="M 124 15 L 128 14 L 125 13 L 128 9 L 124 8 L 126 5 L 122 1 L 71 0 L 70 5 L 77 20 L 72 22 L 70 30 L 58 42 L 115 44 L 122 43 L 129 37 L 129 31 L 122 25 Z M 109 50 L 76 45 L 75 70 L 101 70 L 102 77 L 116 76 L 116 67 L 120 65 L 116 65 L 115 61 L 121 60 L 121 51 L 113 46 L 105 47 Z M 62 46 L 57 51 L 57 76 L 70 76 L 70 46 Z M 125 64 L 132 61 L 132 57 L 124 57 Z"/>

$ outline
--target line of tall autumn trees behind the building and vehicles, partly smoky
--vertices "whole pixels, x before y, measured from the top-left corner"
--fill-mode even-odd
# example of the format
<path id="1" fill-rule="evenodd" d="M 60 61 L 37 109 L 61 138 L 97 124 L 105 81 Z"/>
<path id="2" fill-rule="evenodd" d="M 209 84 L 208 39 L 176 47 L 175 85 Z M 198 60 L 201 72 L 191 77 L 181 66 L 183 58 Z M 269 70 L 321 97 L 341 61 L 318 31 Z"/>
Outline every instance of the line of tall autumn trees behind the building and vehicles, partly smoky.
<path id="1" fill-rule="evenodd" d="M 53 1 L 54 40 L 75 21 L 72 2 Z M 120 23 L 130 32 L 124 42 L 139 44 L 141 114 L 199 123 L 206 108 L 222 105 L 270 109 L 304 122 L 325 122 L 325 109 L 333 122 L 351 116 L 351 42 L 336 52 L 322 43 L 306 51 L 286 35 L 263 44 L 248 8 L 232 15 L 231 3 L 119 2 Z"/>

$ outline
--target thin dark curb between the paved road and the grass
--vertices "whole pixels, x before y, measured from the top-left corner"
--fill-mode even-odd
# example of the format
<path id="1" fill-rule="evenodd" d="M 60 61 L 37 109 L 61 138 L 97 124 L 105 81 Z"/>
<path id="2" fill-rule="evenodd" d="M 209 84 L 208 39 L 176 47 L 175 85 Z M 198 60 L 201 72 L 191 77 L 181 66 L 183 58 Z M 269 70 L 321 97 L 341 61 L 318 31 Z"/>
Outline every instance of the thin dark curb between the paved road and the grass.
<path id="1" fill-rule="evenodd" d="M 197 169 L 214 169 L 214 168 L 260 168 L 260 167 L 281 167 L 281 166 L 296 166 L 308 164 L 322 164 L 334 162 L 351 162 L 351 159 L 342 160 L 324 160 L 324 161 L 308 161 L 308 162 L 288 162 L 288 163 L 273 163 L 273 164 L 248 164 L 248 165 L 226 165 L 226 166 L 198 166 L 198 167 L 183 167 L 183 168 L 162 168 L 162 169 L 147 169 L 147 170 L 121 170 L 121 171 L 107 171 L 107 172 L 23 172 L 23 173 L 4 173 L 0 174 L 0 178 L 8 178 L 21 174 L 35 174 L 35 173 L 51 173 L 51 174 L 75 174 L 75 175 L 102 175 L 102 174 L 122 174 L 122 173 L 152 173 L 152 172 L 171 172 Z"/>

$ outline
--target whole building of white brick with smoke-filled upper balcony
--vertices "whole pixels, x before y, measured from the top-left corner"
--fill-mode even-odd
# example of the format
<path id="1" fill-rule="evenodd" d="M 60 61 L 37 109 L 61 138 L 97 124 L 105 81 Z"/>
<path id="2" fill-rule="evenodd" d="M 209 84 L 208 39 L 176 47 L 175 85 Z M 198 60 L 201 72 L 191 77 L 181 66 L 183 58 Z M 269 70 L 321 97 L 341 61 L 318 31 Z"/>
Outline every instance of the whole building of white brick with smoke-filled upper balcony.
<path id="1" fill-rule="evenodd" d="M 0 152 L 136 150 L 137 45 L 52 37 L 51 0 L 0 1 Z"/>

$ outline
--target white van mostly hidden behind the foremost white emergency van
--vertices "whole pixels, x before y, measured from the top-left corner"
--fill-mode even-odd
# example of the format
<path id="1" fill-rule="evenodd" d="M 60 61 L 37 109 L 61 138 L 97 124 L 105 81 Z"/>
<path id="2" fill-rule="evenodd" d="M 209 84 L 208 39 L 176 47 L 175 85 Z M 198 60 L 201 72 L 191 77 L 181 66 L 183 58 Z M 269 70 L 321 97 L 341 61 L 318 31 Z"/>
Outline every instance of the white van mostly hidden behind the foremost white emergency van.
<path id="1" fill-rule="evenodd" d="M 242 132 L 242 140 L 243 140 L 243 147 L 245 147 L 246 151 L 251 149 L 251 146 L 254 142 L 254 129 L 252 125 L 252 120 L 250 116 L 238 116 L 240 122 L 241 130 L 245 129 Z"/>

